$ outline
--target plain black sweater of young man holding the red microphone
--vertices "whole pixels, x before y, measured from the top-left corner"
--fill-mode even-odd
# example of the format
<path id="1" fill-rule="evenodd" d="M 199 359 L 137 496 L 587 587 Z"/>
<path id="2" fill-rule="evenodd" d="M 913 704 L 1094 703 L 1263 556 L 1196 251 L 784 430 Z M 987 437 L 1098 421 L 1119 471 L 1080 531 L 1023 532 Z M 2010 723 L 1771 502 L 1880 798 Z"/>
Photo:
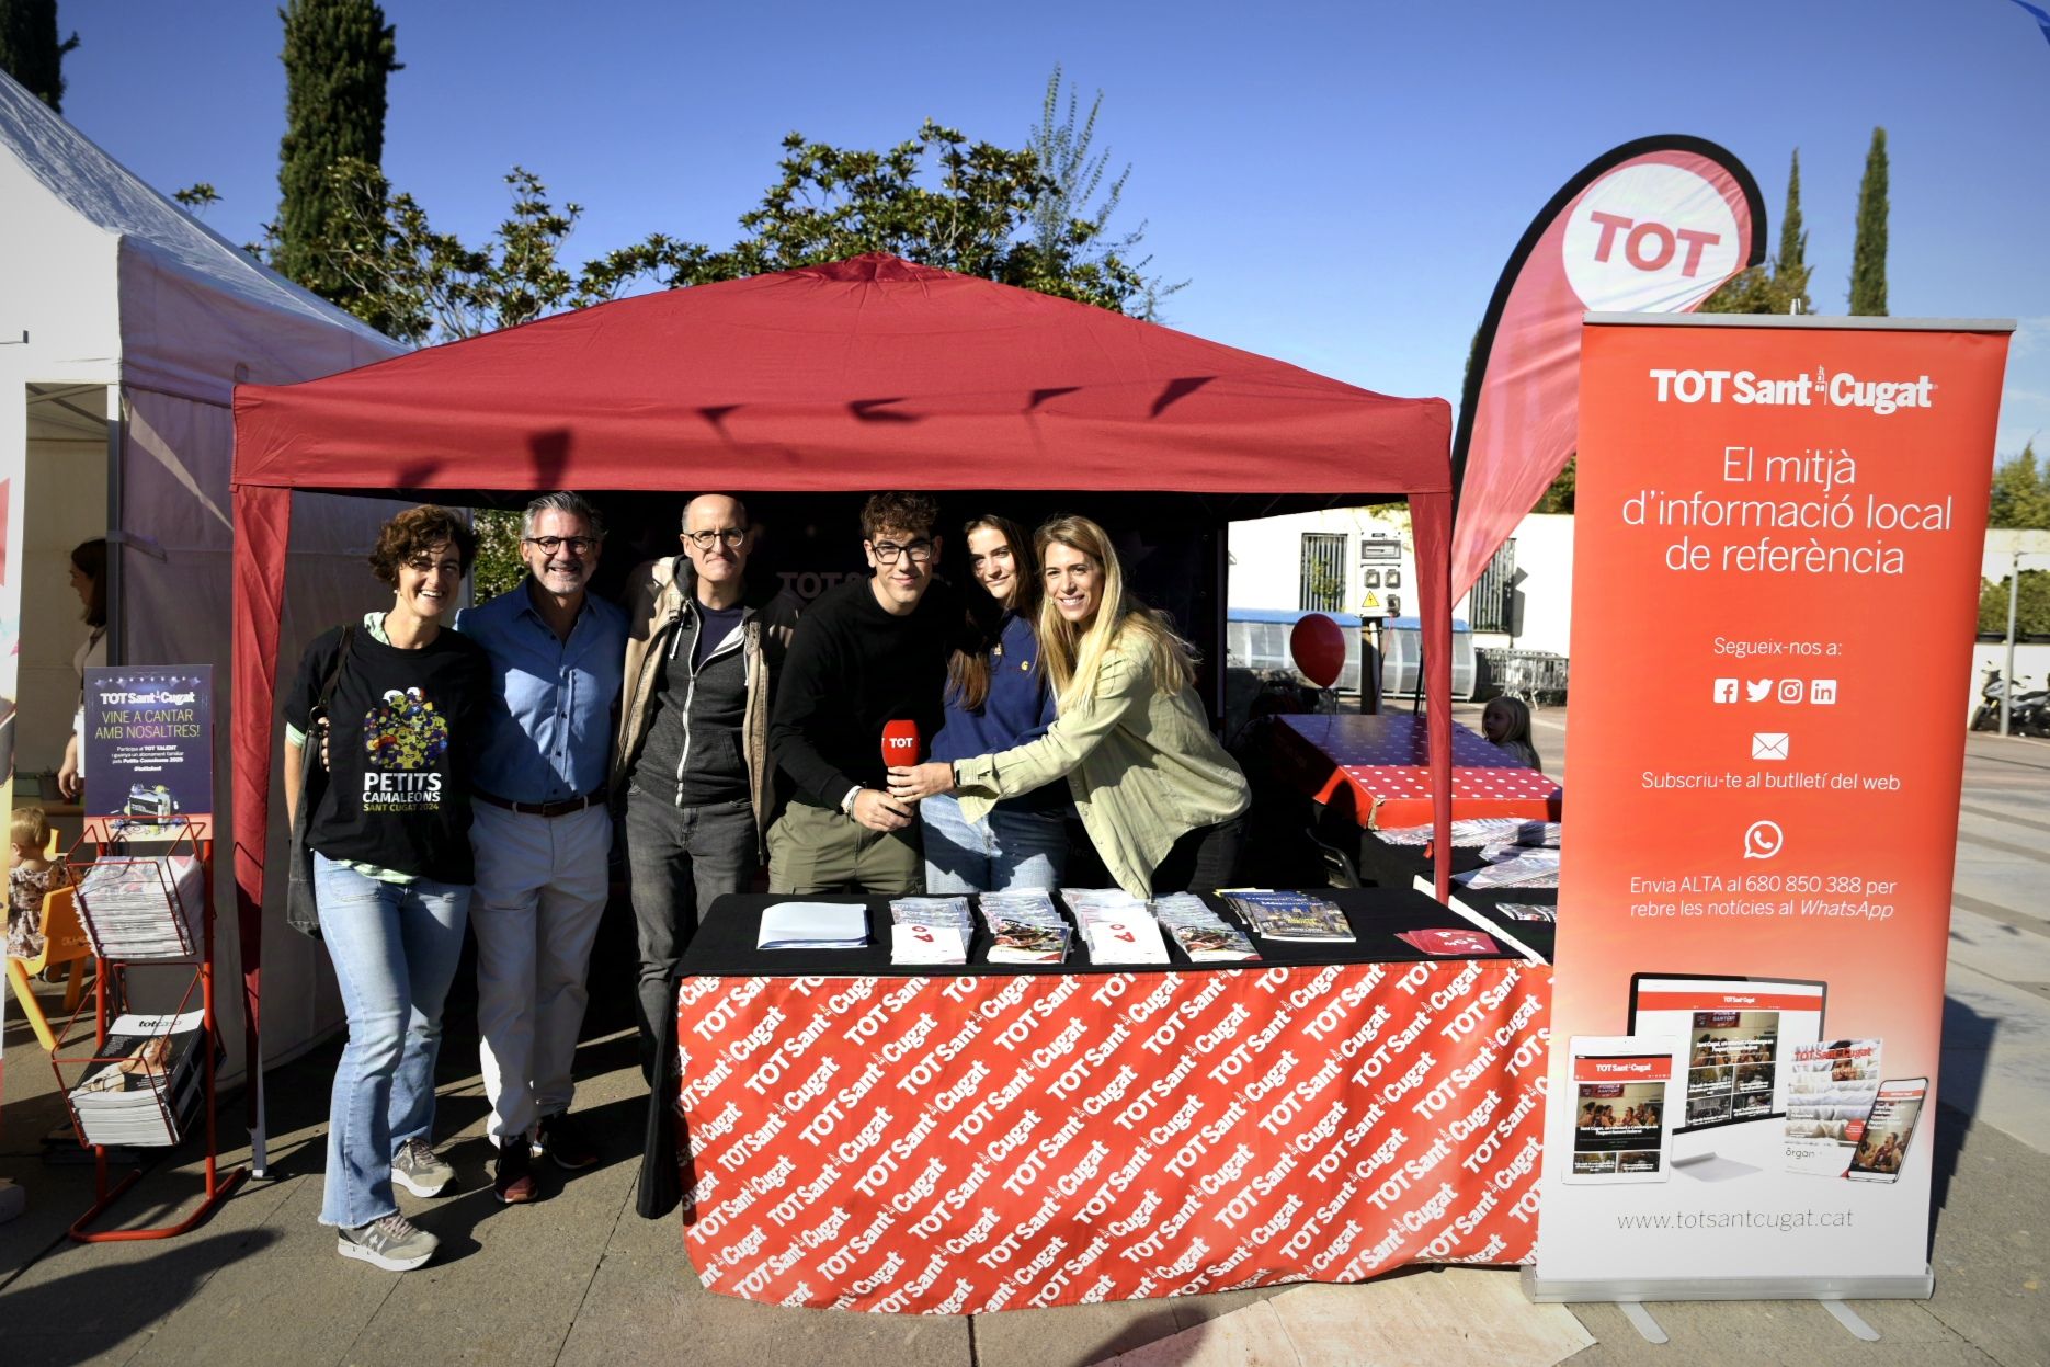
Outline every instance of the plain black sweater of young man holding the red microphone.
<path id="1" fill-rule="evenodd" d="M 953 592 L 935 582 L 916 609 L 892 617 L 865 578 L 806 609 L 769 723 L 769 750 L 799 801 L 836 810 L 855 787 L 884 787 L 890 721 L 916 721 L 925 756 L 943 719 L 959 613 Z"/>

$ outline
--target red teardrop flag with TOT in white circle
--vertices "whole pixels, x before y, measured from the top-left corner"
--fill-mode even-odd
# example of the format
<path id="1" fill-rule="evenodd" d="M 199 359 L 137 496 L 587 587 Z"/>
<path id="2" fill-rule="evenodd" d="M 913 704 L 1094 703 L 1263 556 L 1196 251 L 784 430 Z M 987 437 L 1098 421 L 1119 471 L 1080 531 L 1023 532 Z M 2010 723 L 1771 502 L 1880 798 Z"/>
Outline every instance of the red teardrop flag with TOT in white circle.
<path id="1" fill-rule="evenodd" d="M 1765 201 L 1745 164 L 1665 133 L 1605 152 L 1511 252 L 1474 340 L 1451 443 L 1458 598 L 1578 445 L 1581 316 L 1691 314 L 1765 258 Z"/>

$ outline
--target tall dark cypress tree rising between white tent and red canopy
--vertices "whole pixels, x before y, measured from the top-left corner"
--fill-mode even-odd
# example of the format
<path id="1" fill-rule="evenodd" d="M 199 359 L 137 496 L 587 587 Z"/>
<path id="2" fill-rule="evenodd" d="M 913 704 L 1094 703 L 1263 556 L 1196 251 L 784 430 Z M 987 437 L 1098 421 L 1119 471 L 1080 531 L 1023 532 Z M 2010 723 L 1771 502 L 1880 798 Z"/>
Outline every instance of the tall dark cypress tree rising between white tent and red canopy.
<path id="1" fill-rule="evenodd" d="M 342 205 L 328 168 L 383 162 L 385 76 L 400 70 L 396 29 L 375 0 L 291 0 L 285 20 L 285 139 L 279 146 L 277 246 L 271 264 L 348 305 L 324 242 Z"/>

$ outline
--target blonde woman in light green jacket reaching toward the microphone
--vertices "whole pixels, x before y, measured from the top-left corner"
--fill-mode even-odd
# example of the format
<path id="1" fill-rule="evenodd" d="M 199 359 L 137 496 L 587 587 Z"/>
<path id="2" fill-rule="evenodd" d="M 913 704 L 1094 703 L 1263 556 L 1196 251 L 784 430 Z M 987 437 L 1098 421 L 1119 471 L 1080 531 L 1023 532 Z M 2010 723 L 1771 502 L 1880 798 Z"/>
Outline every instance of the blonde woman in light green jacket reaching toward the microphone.
<path id="1" fill-rule="evenodd" d="M 1140 898 L 1230 887 L 1250 791 L 1210 734 L 1189 644 L 1125 596 L 1117 551 L 1086 516 L 1058 516 L 1033 543 L 1046 576 L 1039 652 L 1060 715 L 1013 750 L 892 769 L 890 795 L 959 793 L 976 820 L 1066 777 L 1119 887 Z"/>

